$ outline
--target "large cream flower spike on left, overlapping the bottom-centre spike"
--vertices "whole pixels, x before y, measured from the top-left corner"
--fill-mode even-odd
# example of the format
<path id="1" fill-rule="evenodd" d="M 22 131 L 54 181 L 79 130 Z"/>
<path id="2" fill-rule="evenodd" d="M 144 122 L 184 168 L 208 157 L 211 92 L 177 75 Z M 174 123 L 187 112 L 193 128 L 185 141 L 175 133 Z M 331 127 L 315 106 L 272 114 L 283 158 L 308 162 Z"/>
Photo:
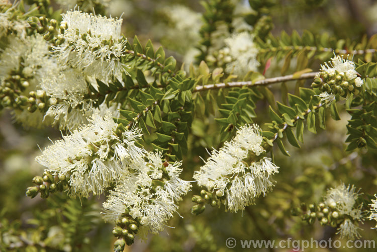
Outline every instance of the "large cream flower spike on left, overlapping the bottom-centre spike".
<path id="1" fill-rule="evenodd" d="M 69 177 L 70 195 L 101 194 L 113 183 L 123 181 L 133 159 L 145 155 L 145 150 L 135 145 L 140 130 L 120 127 L 110 114 L 95 114 L 88 125 L 55 141 L 36 160 L 53 176 Z"/>

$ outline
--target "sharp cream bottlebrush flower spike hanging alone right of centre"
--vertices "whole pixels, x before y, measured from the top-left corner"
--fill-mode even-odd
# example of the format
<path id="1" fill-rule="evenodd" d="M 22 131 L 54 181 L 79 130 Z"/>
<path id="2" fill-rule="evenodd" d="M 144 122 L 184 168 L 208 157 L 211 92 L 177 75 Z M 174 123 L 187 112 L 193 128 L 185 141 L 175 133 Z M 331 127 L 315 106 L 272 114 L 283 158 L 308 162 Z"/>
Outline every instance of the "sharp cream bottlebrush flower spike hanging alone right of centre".
<path id="1" fill-rule="evenodd" d="M 261 131 L 256 124 L 242 126 L 230 142 L 212 151 L 194 179 L 215 193 L 227 210 L 243 210 L 272 188 L 272 175 L 278 173 L 270 158 L 260 156 L 265 151 L 261 144 Z"/>

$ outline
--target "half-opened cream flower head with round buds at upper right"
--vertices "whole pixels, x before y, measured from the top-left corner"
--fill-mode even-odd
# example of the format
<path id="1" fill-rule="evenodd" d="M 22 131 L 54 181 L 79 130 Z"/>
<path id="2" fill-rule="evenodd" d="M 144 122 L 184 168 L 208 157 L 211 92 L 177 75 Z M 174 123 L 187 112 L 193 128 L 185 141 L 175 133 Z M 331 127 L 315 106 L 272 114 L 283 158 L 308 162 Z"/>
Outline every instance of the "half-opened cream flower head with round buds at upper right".
<path id="1" fill-rule="evenodd" d="M 357 95 L 363 80 L 357 76 L 355 63 L 342 56 L 331 58 L 331 62 L 321 65 L 321 72 L 316 75 L 313 88 L 319 88 L 321 102 L 331 103 L 336 95 L 346 98 L 348 94 Z"/>

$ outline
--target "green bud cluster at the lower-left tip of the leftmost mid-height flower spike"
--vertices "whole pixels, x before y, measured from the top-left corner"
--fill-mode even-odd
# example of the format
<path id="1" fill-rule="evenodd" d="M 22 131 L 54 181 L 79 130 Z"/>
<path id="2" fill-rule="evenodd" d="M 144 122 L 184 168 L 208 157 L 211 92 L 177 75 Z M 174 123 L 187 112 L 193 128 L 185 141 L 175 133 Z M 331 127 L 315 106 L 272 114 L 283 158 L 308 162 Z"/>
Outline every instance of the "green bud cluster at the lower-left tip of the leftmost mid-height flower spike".
<path id="1" fill-rule="evenodd" d="M 62 192 L 69 188 L 67 176 L 52 176 L 48 172 L 44 172 L 43 177 L 35 176 L 33 178 L 33 183 L 36 186 L 28 187 L 26 195 L 34 198 L 40 193 L 41 198 L 47 198 L 50 193 Z"/>

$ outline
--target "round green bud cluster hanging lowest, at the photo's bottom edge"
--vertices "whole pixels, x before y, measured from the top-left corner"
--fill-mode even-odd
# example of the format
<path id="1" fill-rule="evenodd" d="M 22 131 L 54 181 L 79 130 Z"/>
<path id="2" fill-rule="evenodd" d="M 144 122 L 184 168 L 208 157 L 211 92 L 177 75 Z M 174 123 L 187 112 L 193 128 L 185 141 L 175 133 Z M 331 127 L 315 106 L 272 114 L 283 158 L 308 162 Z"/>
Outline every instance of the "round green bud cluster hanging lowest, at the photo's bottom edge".
<path id="1" fill-rule="evenodd" d="M 134 219 L 129 213 L 130 210 L 126 208 L 122 215 L 123 218 L 117 220 L 116 226 L 113 228 L 114 236 L 118 237 L 114 243 L 114 251 L 123 251 L 125 244 L 131 245 L 134 243 L 135 234 L 141 226 L 141 218 Z"/>

